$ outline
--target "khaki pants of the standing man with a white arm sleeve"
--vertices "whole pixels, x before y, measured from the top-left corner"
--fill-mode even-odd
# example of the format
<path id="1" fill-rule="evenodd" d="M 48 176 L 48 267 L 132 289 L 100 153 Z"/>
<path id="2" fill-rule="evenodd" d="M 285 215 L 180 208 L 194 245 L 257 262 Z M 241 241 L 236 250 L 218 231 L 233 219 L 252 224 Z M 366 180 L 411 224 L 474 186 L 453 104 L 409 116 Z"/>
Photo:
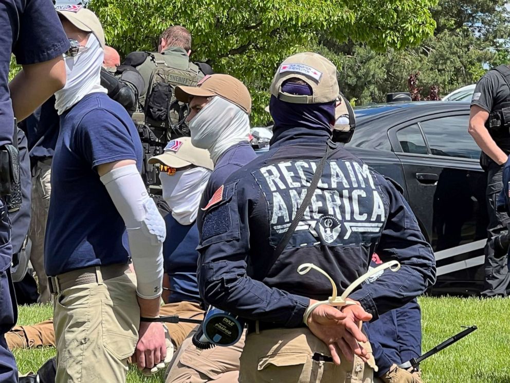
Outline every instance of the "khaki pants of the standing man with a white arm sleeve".
<path id="1" fill-rule="evenodd" d="M 55 297 L 56 383 L 122 383 L 138 341 L 140 309 L 130 274 L 73 286 Z"/>

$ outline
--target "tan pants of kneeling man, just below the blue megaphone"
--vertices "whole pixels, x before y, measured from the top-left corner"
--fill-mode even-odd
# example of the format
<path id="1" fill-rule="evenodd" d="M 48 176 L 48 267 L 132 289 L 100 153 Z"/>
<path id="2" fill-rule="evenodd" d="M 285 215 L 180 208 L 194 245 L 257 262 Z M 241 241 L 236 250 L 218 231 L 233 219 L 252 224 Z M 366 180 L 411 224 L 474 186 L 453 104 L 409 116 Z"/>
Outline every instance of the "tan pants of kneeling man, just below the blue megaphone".
<path id="1" fill-rule="evenodd" d="M 165 383 L 235 383 L 239 377 L 239 357 L 244 347 L 246 332 L 239 342 L 230 347 L 212 347 L 199 350 L 191 336 L 183 342 L 165 374 Z"/>

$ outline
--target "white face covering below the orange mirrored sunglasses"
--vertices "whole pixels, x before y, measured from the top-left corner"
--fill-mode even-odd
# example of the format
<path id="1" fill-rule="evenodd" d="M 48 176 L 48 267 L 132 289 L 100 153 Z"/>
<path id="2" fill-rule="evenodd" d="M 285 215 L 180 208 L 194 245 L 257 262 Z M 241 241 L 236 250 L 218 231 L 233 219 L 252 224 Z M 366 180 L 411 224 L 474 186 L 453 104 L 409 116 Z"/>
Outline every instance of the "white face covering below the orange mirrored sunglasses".
<path id="1" fill-rule="evenodd" d="M 172 216 L 181 225 L 195 222 L 210 175 L 211 170 L 203 167 L 176 171 L 173 176 L 162 171 L 159 173 L 163 199 L 168 203 Z"/>

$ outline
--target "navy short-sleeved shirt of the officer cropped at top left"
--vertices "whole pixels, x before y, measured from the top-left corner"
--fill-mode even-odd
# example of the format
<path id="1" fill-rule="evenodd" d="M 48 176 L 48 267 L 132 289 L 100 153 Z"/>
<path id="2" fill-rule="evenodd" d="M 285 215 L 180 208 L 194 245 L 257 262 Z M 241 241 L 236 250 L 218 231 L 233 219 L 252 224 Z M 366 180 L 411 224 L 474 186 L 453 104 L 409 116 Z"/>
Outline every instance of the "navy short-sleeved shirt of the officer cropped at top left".
<path id="1" fill-rule="evenodd" d="M 14 114 L 8 87 L 11 52 L 21 65 L 52 60 L 69 41 L 51 0 L 0 0 L 0 146 L 12 143 Z"/>

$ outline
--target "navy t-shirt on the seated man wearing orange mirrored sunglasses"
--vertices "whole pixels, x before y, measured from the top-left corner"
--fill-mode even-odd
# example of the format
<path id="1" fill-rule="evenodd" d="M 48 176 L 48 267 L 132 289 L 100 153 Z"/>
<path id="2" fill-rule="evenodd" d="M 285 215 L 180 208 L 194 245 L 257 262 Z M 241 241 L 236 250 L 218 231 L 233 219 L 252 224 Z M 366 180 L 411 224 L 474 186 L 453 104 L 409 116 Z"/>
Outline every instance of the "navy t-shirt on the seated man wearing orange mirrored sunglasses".
<path id="1" fill-rule="evenodd" d="M 198 261 L 198 229 L 196 223 L 183 225 L 172 214 L 165 217 L 167 238 L 163 242 L 165 272 L 170 279 L 170 298 L 167 303 L 197 302 L 202 299 L 196 282 Z"/>

